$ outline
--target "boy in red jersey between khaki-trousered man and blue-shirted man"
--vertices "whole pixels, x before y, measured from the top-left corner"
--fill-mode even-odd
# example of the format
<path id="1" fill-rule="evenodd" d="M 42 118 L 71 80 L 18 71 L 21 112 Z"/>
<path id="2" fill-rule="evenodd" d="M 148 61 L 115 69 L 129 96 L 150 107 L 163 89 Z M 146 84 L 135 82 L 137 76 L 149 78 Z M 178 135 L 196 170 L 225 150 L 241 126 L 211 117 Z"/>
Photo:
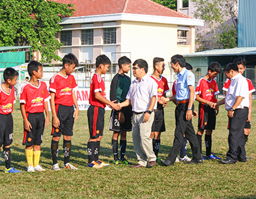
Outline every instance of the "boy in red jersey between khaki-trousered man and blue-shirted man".
<path id="1" fill-rule="evenodd" d="M 158 101 L 163 96 L 166 97 L 166 93 L 170 91 L 167 79 L 162 76 L 164 71 L 164 59 L 160 57 L 155 57 L 153 60 L 154 73 L 150 75 L 152 79 L 158 84 Z M 152 124 L 152 130 L 150 138 L 153 138 L 153 151 L 156 156 L 156 162 L 160 163 L 162 160 L 158 157 L 160 148 L 160 135 L 162 132 L 166 131 L 166 126 L 164 124 L 164 107 L 163 104 L 157 105 L 157 111 L 155 112 L 154 122 Z"/>

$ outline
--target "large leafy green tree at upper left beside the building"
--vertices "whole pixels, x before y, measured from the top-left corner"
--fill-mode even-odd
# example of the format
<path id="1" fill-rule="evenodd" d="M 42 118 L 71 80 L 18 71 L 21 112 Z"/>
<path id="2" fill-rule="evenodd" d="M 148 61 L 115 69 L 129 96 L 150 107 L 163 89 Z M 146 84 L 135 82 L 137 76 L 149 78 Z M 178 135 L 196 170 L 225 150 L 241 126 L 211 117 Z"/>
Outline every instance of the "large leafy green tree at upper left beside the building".
<path id="1" fill-rule="evenodd" d="M 61 60 L 55 54 L 62 45 L 56 33 L 61 17 L 72 16 L 73 7 L 51 0 L 0 0 L 0 46 L 31 45 L 42 62 Z"/>

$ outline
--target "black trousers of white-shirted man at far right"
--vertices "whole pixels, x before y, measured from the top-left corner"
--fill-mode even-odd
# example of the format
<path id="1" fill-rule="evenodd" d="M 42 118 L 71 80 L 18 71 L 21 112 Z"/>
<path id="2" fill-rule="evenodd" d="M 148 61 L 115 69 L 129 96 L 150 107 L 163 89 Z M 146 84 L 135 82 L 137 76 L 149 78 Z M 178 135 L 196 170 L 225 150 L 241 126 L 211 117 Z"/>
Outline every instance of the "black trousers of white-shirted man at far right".
<path id="1" fill-rule="evenodd" d="M 229 151 L 226 153 L 232 162 L 246 162 L 245 136 L 243 128 L 248 116 L 248 109 L 238 109 L 234 117 L 229 118 Z"/>

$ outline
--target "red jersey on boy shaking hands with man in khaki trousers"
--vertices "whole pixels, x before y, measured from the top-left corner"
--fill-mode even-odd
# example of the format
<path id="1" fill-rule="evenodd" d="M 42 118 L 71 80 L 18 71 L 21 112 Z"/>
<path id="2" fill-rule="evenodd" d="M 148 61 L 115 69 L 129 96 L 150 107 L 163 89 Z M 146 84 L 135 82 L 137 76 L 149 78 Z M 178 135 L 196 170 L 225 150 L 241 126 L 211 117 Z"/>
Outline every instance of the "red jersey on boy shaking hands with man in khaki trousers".
<path id="1" fill-rule="evenodd" d="M 96 107 L 105 108 L 106 104 L 95 98 L 95 93 L 100 92 L 101 95 L 106 98 L 105 83 L 101 75 L 94 73 L 92 81 L 90 82 L 90 97 L 89 103 Z"/>

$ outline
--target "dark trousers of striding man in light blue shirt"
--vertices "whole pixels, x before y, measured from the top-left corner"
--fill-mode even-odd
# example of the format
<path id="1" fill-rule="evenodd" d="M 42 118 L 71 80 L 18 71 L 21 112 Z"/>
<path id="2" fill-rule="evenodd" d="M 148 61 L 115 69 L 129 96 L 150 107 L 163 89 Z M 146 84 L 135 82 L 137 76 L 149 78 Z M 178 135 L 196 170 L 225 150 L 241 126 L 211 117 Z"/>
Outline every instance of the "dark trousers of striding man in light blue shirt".
<path id="1" fill-rule="evenodd" d="M 175 109 L 175 120 L 176 120 L 176 128 L 174 133 L 175 139 L 174 139 L 174 145 L 172 146 L 170 154 L 167 157 L 167 159 L 171 161 L 171 164 L 175 163 L 176 156 L 179 154 L 180 148 L 183 143 L 184 134 L 190 143 L 192 153 L 193 153 L 193 159 L 195 160 L 202 159 L 200 154 L 199 142 L 197 140 L 196 133 L 192 125 L 192 120 L 189 120 L 189 121 L 186 120 L 187 109 L 188 109 L 188 102 L 185 104 L 177 105 Z M 194 106 L 192 107 L 192 109 L 194 109 Z"/>

